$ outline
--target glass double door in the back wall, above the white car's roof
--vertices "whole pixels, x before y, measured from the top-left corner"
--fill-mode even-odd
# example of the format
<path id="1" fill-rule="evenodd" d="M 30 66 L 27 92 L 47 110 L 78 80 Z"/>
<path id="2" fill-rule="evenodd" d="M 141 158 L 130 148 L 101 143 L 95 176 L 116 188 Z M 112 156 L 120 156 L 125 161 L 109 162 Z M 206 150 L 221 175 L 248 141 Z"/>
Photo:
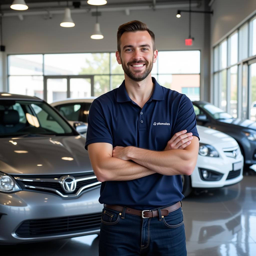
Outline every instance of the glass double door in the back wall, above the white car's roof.
<path id="1" fill-rule="evenodd" d="M 66 98 L 93 96 L 93 76 L 45 76 L 44 100 L 51 103 Z"/>

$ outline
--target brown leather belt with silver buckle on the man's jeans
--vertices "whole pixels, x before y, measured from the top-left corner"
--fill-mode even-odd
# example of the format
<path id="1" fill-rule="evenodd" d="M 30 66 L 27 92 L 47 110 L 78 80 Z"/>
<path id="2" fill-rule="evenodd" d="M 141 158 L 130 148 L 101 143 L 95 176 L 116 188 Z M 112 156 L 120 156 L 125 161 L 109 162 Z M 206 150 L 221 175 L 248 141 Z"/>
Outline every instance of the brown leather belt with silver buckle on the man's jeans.
<path id="1" fill-rule="evenodd" d="M 104 205 L 104 206 L 107 208 L 116 210 L 116 211 L 120 211 L 120 213 L 123 212 L 123 209 L 124 209 L 123 206 L 119 206 L 119 205 Z M 161 209 L 161 215 L 167 216 L 170 212 L 175 211 L 175 210 L 179 209 L 180 207 L 181 207 L 181 202 L 177 202 L 175 205 L 171 205 L 171 206 Z M 140 211 L 140 210 L 135 210 L 135 209 L 128 208 L 128 207 L 126 207 L 125 213 L 141 216 L 143 219 L 159 216 L 158 210 Z"/>

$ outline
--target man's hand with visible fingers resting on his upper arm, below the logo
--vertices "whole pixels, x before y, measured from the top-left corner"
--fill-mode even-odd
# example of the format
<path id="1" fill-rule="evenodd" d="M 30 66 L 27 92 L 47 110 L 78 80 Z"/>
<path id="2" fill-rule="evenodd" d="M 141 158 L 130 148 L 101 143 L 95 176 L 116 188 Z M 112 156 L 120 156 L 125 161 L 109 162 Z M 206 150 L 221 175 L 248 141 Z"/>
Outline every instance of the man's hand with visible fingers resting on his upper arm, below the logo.
<path id="1" fill-rule="evenodd" d="M 183 130 L 175 133 L 173 137 L 167 142 L 164 151 L 172 149 L 184 149 L 185 147 L 190 145 L 191 140 L 193 140 L 193 134 L 191 132 L 186 132 L 187 130 Z"/>

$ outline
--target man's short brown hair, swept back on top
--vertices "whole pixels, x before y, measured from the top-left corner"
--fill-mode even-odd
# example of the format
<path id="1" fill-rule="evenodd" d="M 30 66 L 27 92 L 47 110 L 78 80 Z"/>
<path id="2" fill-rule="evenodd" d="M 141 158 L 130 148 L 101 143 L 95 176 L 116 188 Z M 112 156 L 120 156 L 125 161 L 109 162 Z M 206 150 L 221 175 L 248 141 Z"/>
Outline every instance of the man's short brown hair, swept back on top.
<path id="1" fill-rule="evenodd" d="M 120 25 L 118 27 L 117 31 L 117 50 L 121 52 L 120 48 L 120 38 L 123 35 L 124 32 L 135 32 L 135 31 L 148 31 L 148 33 L 151 36 L 152 42 L 153 42 L 153 50 L 155 51 L 156 45 L 155 45 L 155 34 L 149 30 L 147 25 L 139 20 L 133 20 L 130 22 L 127 22 L 123 25 Z"/>

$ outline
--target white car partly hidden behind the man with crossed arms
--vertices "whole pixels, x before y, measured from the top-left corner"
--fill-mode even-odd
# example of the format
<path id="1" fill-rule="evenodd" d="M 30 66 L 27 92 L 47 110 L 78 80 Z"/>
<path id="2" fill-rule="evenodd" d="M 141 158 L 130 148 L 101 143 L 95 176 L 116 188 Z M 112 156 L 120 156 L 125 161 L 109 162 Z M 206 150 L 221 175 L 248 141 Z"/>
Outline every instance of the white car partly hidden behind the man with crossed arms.
<path id="1" fill-rule="evenodd" d="M 87 124 L 93 98 L 55 101 L 57 108 L 68 121 Z M 191 176 L 183 175 L 183 194 L 188 196 L 192 188 L 221 188 L 240 182 L 243 178 L 243 156 L 232 137 L 214 129 L 197 125 L 200 136 L 198 160 Z"/>

